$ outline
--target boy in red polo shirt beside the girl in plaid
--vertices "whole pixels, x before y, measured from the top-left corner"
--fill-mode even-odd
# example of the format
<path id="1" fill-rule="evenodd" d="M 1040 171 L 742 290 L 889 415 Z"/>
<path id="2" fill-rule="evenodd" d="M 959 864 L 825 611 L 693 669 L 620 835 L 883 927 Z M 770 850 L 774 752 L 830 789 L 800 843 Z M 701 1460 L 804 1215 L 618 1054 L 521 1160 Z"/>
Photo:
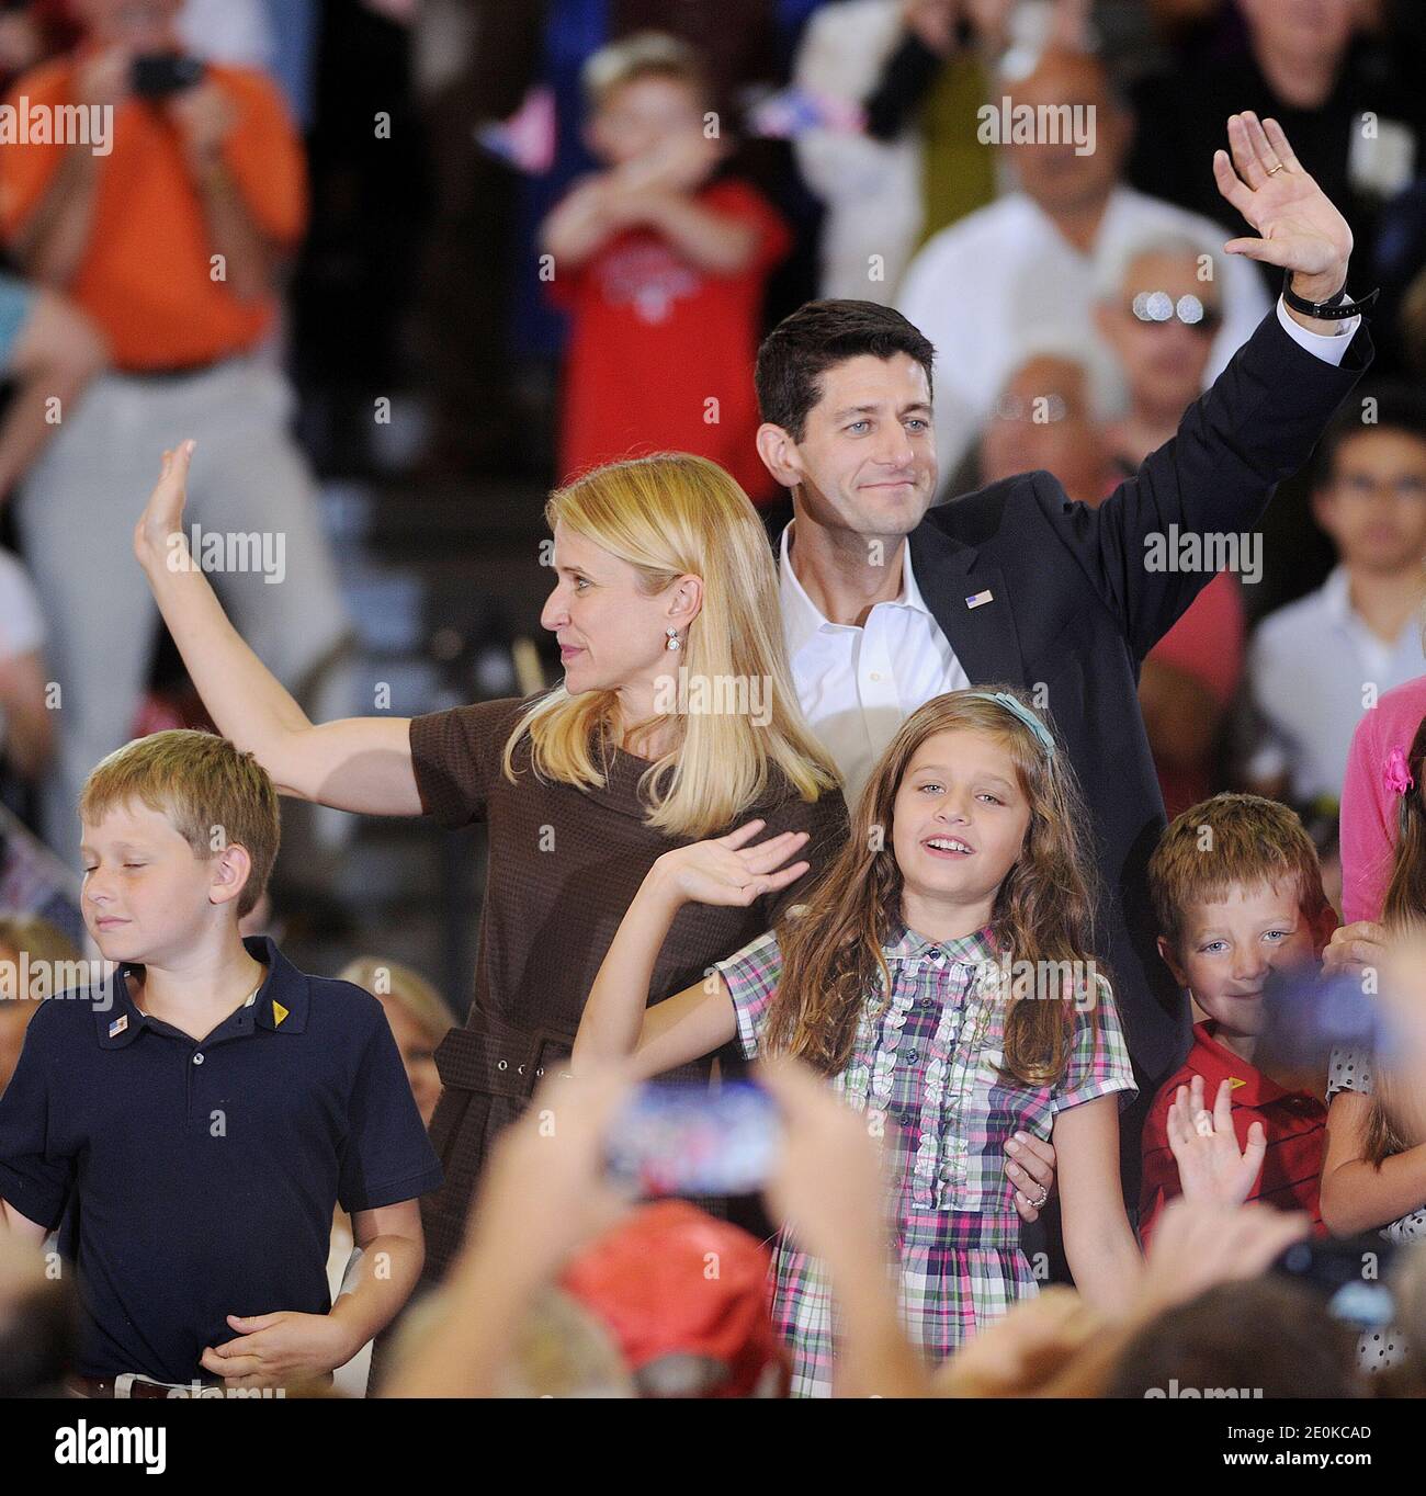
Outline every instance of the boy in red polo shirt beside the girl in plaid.
<path id="1" fill-rule="evenodd" d="M 1179 1086 L 1203 1077 L 1212 1107 L 1231 1088 L 1239 1147 L 1261 1123 L 1267 1152 L 1249 1200 L 1306 1210 L 1317 1203 L 1327 1109 L 1254 1065 L 1266 1014 L 1267 974 L 1321 957 L 1336 911 L 1323 889 L 1317 850 L 1285 805 L 1255 794 L 1215 794 L 1178 815 L 1149 860 L 1158 950 L 1181 987 L 1208 1014 L 1178 1074 L 1154 1098 L 1143 1128 L 1139 1234 L 1148 1243 L 1164 1204 L 1181 1192 L 1169 1147 L 1169 1107 Z"/>

